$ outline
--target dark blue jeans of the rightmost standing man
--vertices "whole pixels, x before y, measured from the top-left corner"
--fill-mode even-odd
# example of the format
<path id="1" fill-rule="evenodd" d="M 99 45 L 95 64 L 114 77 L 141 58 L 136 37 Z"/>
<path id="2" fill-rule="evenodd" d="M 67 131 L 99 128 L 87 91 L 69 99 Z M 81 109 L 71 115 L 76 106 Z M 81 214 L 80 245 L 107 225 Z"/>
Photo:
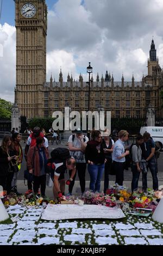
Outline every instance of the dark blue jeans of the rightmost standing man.
<path id="1" fill-rule="evenodd" d="M 153 179 L 153 190 L 158 190 L 159 184 L 158 184 L 158 177 L 157 177 L 157 168 L 156 168 L 156 159 L 153 157 L 153 159 L 148 161 L 147 170 L 151 170 L 152 179 Z M 142 188 L 143 190 L 147 190 L 147 173 L 142 173 Z"/>

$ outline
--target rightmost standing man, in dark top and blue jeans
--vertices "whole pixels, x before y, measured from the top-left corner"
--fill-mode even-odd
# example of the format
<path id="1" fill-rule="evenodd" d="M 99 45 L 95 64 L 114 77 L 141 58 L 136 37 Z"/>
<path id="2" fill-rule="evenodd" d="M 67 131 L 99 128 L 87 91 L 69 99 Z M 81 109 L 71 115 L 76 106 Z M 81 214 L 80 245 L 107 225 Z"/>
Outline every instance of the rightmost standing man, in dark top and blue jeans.
<path id="1" fill-rule="evenodd" d="M 148 167 L 151 170 L 152 179 L 153 179 L 153 190 L 158 190 L 158 177 L 157 177 L 157 168 L 156 168 L 156 158 L 155 158 L 155 144 L 149 132 L 143 134 L 143 144 L 142 149 L 142 158 L 146 160 L 147 170 Z M 147 190 L 147 173 L 142 173 L 142 188 L 144 191 Z"/>

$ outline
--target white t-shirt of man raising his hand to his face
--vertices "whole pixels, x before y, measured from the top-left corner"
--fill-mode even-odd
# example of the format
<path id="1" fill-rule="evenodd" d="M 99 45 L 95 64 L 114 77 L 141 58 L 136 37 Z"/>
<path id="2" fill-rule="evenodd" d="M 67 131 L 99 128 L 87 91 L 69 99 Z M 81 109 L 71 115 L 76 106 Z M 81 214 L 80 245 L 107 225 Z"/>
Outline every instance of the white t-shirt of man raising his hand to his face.
<path id="1" fill-rule="evenodd" d="M 72 141 L 72 136 L 73 135 L 71 135 L 68 138 L 68 143 L 69 142 L 72 143 L 74 148 L 81 148 L 81 142 L 79 141 L 77 136 L 75 135 L 74 141 Z M 89 141 L 89 138 L 84 135 L 83 135 L 83 137 L 85 137 L 84 143 L 87 143 Z M 85 163 L 85 155 L 82 151 L 70 151 L 70 155 L 74 157 L 74 159 L 76 160 L 77 163 Z"/>

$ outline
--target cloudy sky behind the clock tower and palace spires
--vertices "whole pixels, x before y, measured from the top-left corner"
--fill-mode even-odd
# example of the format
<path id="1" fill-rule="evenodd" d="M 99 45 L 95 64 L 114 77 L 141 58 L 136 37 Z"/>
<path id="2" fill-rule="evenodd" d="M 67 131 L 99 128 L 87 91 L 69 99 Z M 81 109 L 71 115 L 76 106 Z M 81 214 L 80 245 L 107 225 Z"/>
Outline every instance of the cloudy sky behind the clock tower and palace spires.
<path id="1" fill-rule="evenodd" d="M 2 0 L 0 0 L 1 3 Z M 67 74 L 86 81 L 86 67 L 115 81 L 140 81 L 147 74 L 152 37 L 163 65 L 163 0 L 46 0 L 48 5 L 47 81 Z M 15 7 L 3 0 L 0 21 L 0 97 L 14 101 Z"/>

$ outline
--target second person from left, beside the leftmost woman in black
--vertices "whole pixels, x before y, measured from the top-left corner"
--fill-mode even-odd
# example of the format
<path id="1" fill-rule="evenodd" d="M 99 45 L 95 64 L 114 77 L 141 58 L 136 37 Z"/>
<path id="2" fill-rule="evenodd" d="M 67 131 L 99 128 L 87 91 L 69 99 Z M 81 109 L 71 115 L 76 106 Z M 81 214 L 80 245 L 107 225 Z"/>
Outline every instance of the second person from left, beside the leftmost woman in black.
<path id="1" fill-rule="evenodd" d="M 16 193 L 17 196 L 20 196 L 21 193 L 17 192 L 17 177 L 18 177 L 18 173 L 21 169 L 21 163 L 22 163 L 22 159 L 23 159 L 23 150 L 21 147 L 21 139 L 22 136 L 20 135 L 20 133 L 14 133 L 12 135 L 12 148 L 14 149 L 16 155 L 17 155 L 17 167 L 18 167 L 18 172 L 14 173 L 13 179 L 12 179 L 12 192 Z"/>

